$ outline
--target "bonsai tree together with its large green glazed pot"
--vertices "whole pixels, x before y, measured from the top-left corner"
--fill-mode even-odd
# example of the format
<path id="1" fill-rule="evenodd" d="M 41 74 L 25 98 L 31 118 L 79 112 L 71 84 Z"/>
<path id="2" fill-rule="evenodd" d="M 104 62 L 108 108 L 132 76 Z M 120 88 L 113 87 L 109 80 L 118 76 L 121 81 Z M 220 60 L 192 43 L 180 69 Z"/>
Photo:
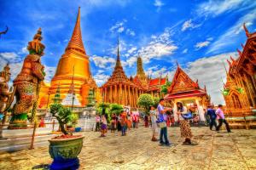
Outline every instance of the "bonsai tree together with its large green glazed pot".
<path id="1" fill-rule="evenodd" d="M 66 126 L 73 122 L 73 112 L 61 104 L 50 105 L 50 113 L 59 122 L 61 136 L 49 139 L 49 155 L 53 158 L 51 169 L 66 169 L 79 166 L 79 153 L 83 147 L 82 135 L 73 135 L 67 132 Z"/>

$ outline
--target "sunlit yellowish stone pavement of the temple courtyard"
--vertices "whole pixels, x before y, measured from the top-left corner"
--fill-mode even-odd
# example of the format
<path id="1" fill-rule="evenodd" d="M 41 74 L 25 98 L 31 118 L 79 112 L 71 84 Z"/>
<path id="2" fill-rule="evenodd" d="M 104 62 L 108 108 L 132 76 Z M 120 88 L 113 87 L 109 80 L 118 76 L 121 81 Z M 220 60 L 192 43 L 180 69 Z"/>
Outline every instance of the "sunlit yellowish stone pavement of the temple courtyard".
<path id="1" fill-rule="evenodd" d="M 83 133 L 84 147 L 79 169 L 256 169 L 256 130 L 233 133 L 192 127 L 193 142 L 183 145 L 179 127 L 168 128 L 172 147 L 151 142 L 151 128 L 139 127 L 122 137 L 120 133 Z M 47 169 L 48 146 L 0 155 L 1 170 Z"/>

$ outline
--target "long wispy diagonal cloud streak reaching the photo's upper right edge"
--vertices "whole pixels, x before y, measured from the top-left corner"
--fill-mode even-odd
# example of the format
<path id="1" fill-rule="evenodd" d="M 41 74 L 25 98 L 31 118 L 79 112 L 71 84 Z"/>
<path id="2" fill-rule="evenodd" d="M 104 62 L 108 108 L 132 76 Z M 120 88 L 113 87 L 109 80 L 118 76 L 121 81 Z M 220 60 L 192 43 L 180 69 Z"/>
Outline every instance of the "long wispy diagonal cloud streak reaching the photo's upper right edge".
<path id="1" fill-rule="evenodd" d="M 224 32 L 223 35 L 217 38 L 217 41 L 213 42 L 207 54 L 216 52 L 221 48 L 230 46 L 231 44 L 235 43 L 236 40 L 239 41 L 239 37 L 237 34 L 241 33 L 241 26 L 243 23 L 247 23 L 247 26 L 250 26 L 251 23 L 255 23 L 256 21 L 256 8 L 253 11 L 250 11 L 248 14 L 243 15 L 239 20 L 236 21 L 234 26 L 231 26 L 230 29 Z M 245 34 L 245 33 L 244 33 Z"/>

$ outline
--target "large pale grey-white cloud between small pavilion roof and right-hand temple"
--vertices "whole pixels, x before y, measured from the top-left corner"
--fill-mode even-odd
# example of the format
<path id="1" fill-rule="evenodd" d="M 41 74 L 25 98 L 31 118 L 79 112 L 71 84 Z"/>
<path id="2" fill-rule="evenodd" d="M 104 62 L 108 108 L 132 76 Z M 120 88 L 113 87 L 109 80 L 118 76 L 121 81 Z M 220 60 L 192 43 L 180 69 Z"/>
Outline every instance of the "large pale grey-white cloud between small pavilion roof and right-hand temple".
<path id="1" fill-rule="evenodd" d="M 238 57 L 236 52 L 202 57 L 194 62 L 189 62 L 188 68 L 185 69 L 189 77 L 193 80 L 198 79 L 201 88 L 204 88 L 204 85 L 207 86 L 207 93 L 211 95 L 215 105 L 224 104 L 224 98 L 220 91 L 223 89 L 222 79 L 225 81 L 226 77 L 223 62 L 228 69 L 229 65 L 226 59 L 230 59 L 230 55 L 234 59 Z"/>

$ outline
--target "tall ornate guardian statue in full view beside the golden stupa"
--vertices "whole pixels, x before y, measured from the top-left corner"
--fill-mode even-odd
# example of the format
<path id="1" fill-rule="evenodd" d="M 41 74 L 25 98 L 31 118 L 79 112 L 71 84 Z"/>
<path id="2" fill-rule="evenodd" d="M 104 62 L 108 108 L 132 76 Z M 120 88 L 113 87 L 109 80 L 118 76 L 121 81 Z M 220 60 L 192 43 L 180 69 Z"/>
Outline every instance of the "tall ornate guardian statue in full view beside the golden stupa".
<path id="1" fill-rule="evenodd" d="M 26 127 L 27 113 L 30 111 L 32 111 L 32 119 L 35 116 L 40 83 L 45 76 L 44 65 L 41 64 L 41 57 L 44 55 L 41 34 L 42 31 L 39 28 L 32 42 L 28 42 L 29 54 L 24 59 L 20 74 L 14 80 L 16 103 L 9 128 Z"/>

